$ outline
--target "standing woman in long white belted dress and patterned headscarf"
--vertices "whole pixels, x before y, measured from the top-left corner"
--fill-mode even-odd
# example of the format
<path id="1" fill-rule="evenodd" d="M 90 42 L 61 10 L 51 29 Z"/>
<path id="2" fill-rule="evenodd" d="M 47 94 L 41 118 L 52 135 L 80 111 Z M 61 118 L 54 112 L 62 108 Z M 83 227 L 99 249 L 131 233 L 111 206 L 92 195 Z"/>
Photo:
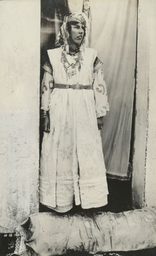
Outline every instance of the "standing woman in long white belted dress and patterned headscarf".
<path id="1" fill-rule="evenodd" d="M 56 45 L 48 50 L 42 82 L 44 136 L 40 157 L 40 203 L 57 212 L 107 204 L 100 130 L 109 110 L 102 62 L 87 48 L 87 17 L 64 18 Z"/>

